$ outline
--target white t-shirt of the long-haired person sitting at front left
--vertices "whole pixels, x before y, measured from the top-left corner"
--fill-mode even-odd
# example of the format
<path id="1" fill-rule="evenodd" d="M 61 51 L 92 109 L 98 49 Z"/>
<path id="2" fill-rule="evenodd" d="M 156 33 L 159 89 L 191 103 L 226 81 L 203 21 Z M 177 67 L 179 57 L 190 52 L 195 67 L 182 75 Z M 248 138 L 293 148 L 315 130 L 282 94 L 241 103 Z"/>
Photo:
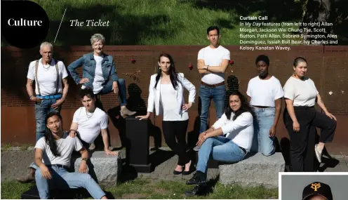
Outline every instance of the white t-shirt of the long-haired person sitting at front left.
<path id="1" fill-rule="evenodd" d="M 82 149 L 82 143 L 77 137 L 70 137 L 69 133 L 65 132 L 62 138 L 55 140 L 57 144 L 57 152 L 60 156 L 55 156 L 51 152 L 51 148 L 47 145 L 45 137 L 40 138 L 35 145 L 35 148 L 39 148 L 44 152 L 42 161 L 45 165 L 60 164 L 69 167 L 72 158 L 72 151 L 78 152 Z"/>

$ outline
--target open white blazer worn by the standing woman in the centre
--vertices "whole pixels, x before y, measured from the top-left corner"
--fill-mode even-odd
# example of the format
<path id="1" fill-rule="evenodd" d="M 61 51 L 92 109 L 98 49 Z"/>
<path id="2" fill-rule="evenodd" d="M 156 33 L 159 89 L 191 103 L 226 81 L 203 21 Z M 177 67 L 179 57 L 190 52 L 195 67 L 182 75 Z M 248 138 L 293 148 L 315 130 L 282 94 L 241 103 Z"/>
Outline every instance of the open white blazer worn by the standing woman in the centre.
<path id="1" fill-rule="evenodd" d="M 161 96 L 161 79 L 157 83 L 156 88 L 154 85 L 156 84 L 156 76 L 154 74 L 150 79 L 149 86 L 149 99 L 147 100 L 147 112 L 154 112 L 154 108 L 156 110 L 156 115 L 163 114 L 163 108 L 159 106 L 159 98 Z M 181 84 L 180 84 L 181 83 Z M 187 91 L 189 91 L 189 102 L 194 102 L 194 98 L 196 97 L 196 88 L 194 85 L 184 77 L 184 74 L 178 74 L 178 88 L 175 90 L 176 98 L 178 101 L 178 113 L 182 114 L 182 105 L 185 103 L 184 100 L 184 86 Z"/>

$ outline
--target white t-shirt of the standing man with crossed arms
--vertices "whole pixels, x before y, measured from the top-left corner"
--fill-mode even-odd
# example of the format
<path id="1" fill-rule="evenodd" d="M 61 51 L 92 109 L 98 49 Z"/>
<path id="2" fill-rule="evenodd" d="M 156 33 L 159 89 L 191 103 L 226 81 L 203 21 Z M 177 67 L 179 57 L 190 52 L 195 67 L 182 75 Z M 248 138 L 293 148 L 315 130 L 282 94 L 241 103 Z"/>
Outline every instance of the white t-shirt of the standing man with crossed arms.
<path id="1" fill-rule="evenodd" d="M 230 53 L 221 45 L 217 48 L 210 48 L 210 46 L 202 48 L 197 58 L 197 60 L 204 60 L 204 63 L 209 66 L 220 66 L 223 59 L 230 60 Z M 219 84 L 225 81 L 225 73 L 203 74 L 201 80 L 206 84 Z"/>

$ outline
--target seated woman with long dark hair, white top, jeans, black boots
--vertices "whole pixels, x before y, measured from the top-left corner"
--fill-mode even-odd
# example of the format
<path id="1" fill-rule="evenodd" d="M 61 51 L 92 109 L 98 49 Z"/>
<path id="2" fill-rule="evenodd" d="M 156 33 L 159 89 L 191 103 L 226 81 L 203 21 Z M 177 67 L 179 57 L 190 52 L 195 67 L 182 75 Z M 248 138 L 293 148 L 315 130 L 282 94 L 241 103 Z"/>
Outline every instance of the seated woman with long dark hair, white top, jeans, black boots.
<path id="1" fill-rule="evenodd" d="M 199 135 L 196 173 L 186 182 L 187 185 L 196 184 L 196 187 L 187 194 L 195 195 L 206 185 L 210 155 L 217 161 L 237 162 L 244 159 L 253 142 L 254 118 L 246 98 L 239 91 L 233 91 L 221 118 Z"/>

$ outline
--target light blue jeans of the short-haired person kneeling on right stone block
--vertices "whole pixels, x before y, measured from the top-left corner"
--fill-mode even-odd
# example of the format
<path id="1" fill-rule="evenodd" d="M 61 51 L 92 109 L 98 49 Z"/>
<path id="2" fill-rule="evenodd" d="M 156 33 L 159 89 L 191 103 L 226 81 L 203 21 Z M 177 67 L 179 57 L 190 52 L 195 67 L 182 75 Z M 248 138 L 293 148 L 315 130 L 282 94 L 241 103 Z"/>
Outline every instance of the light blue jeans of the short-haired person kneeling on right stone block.
<path id="1" fill-rule="evenodd" d="M 276 151 L 274 137 L 269 137 L 269 130 L 273 126 L 276 109 L 274 107 L 253 107 L 253 109 L 256 114 L 256 121 L 254 121 L 254 137 L 251 151 L 262 152 L 265 156 L 270 156 Z"/>

